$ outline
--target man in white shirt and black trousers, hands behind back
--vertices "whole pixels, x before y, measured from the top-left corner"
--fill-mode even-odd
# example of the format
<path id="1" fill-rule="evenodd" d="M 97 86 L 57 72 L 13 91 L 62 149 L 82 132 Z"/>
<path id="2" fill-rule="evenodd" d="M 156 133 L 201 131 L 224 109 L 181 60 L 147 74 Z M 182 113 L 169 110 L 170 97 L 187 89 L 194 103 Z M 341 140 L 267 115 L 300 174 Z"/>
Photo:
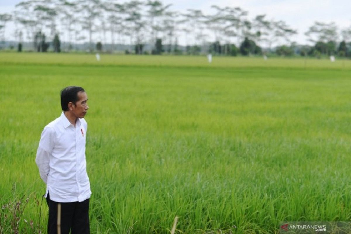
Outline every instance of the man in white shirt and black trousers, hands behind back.
<path id="1" fill-rule="evenodd" d="M 85 139 L 88 97 L 82 87 L 61 90 L 62 114 L 41 133 L 37 158 L 46 183 L 49 234 L 90 233 L 90 182 L 86 173 Z"/>

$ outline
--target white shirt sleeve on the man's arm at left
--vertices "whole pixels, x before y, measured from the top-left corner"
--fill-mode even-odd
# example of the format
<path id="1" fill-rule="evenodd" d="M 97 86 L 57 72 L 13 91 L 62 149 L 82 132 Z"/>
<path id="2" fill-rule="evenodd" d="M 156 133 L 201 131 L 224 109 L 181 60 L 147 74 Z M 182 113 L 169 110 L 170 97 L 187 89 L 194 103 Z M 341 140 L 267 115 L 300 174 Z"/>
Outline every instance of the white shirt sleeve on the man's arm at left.
<path id="1" fill-rule="evenodd" d="M 37 163 L 41 179 L 47 183 L 47 175 L 49 174 L 49 162 L 52 149 L 55 144 L 55 131 L 51 127 L 45 127 L 41 133 L 39 147 L 37 150 Z"/>

